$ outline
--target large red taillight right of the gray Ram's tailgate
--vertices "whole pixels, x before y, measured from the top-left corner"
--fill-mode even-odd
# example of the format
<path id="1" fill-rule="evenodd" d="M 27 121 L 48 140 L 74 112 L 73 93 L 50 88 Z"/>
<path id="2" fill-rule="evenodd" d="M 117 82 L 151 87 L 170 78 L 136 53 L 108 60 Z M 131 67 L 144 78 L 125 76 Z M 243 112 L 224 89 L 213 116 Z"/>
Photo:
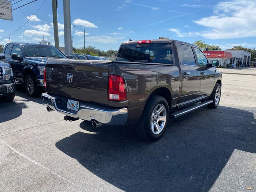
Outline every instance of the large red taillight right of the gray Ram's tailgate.
<path id="1" fill-rule="evenodd" d="M 124 78 L 117 75 L 108 76 L 108 100 L 125 101 L 126 88 Z"/>

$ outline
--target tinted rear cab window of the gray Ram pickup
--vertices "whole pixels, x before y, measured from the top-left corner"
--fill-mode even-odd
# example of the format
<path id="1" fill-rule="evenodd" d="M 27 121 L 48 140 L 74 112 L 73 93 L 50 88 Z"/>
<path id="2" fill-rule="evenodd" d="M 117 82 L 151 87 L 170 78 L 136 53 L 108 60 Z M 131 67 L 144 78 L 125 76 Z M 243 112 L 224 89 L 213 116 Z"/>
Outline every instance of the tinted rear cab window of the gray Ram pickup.
<path id="1" fill-rule="evenodd" d="M 126 44 L 120 47 L 117 61 L 172 64 L 170 43 Z"/>

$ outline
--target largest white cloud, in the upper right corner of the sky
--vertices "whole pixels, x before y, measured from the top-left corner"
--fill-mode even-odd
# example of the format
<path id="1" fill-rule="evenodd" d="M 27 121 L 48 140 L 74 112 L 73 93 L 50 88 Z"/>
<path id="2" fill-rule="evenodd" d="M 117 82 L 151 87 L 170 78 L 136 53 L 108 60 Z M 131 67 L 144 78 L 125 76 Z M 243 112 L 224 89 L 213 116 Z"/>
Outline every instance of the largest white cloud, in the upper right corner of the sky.
<path id="1" fill-rule="evenodd" d="M 208 39 L 243 38 L 256 36 L 256 1 L 230 0 L 214 7 L 216 15 L 194 21 L 210 28 L 202 33 Z M 250 14 L 248 14 L 250 13 Z"/>

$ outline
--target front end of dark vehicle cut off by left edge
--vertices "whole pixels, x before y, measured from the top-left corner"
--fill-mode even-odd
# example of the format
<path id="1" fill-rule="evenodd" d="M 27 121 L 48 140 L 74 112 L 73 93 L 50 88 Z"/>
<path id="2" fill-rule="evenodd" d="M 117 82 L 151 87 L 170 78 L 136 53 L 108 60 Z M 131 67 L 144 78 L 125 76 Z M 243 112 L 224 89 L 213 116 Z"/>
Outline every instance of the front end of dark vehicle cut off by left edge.
<path id="1" fill-rule="evenodd" d="M 0 99 L 12 101 L 15 97 L 16 85 L 10 64 L 4 62 L 4 54 L 0 54 Z"/>

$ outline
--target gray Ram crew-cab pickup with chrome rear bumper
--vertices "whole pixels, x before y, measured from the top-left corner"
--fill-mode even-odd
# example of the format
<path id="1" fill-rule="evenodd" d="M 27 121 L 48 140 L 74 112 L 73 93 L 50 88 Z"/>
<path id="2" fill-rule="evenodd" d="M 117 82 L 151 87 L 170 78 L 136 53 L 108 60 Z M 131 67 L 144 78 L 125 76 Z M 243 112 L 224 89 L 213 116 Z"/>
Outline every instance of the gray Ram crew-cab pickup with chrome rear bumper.
<path id="1" fill-rule="evenodd" d="M 114 61 L 48 60 L 42 101 L 49 112 L 94 127 L 137 122 L 138 135 L 153 141 L 164 134 L 169 117 L 218 107 L 218 66 L 186 42 L 129 41 Z"/>

